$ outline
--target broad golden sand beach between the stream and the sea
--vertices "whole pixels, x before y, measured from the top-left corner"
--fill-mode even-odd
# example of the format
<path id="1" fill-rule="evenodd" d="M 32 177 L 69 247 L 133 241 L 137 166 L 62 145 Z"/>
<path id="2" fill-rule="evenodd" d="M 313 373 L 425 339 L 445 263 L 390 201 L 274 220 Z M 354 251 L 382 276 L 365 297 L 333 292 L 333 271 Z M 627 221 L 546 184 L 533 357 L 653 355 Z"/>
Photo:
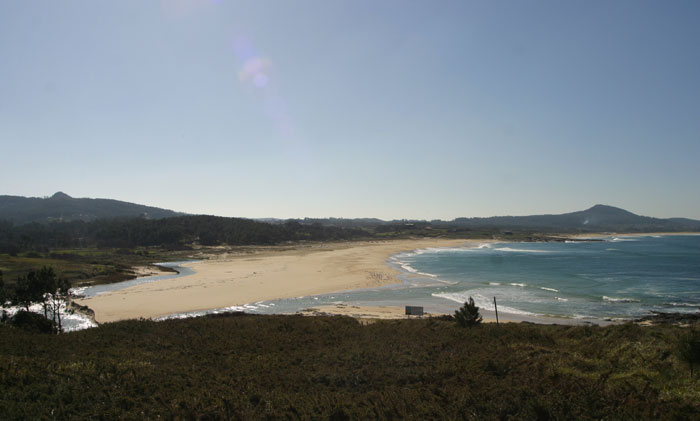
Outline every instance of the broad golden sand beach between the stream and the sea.
<path id="1" fill-rule="evenodd" d="M 484 240 L 420 239 L 323 243 L 292 250 L 223 256 L 187 264 L 196 273 L 75 300 L 99 323 L 154 318 L 280 298 L 399 283 L 392 254 L 428 247 L 477 245 Z"/>

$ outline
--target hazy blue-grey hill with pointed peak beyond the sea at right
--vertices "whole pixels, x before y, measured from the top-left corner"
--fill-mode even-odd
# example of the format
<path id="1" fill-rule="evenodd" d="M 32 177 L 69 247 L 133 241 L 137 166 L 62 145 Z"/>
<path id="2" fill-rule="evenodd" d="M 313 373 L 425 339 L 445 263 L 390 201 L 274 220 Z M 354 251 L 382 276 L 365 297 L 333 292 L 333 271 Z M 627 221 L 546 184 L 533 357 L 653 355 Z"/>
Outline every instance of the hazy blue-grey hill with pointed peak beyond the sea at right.
<path id="1" fill-rule="evenodd" d="M 590 209 L 559 215 L 494 216 L 457 218 L 450 225 L 469 228 L 529 229 L 541 231 L 699 231 L 700 221 L 686 218 L 652 218 L 624 209 L 595 205 Z"/>

